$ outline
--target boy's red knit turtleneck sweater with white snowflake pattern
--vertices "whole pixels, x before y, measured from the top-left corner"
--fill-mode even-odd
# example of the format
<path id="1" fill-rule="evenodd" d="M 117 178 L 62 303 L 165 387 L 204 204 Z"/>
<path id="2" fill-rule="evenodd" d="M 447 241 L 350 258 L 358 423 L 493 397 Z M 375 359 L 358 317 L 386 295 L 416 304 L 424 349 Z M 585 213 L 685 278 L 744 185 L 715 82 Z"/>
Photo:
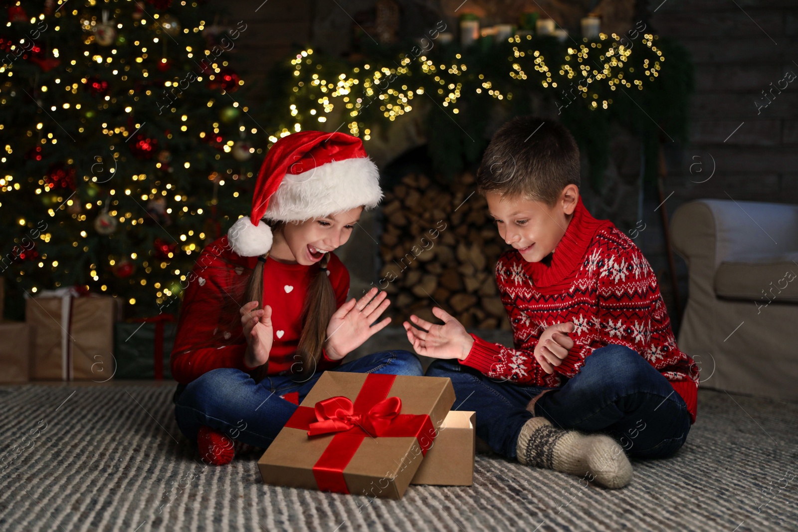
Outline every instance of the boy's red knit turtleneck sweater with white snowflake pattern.
<path id="1" fill-rule="evenodd" d="M 527 262 L 508 250 L 496 263 L 496 285 L 512 324 L 516 349 L 472 335 L 461 364 L 516 384 L 557 388 L 579 373 L 585 358 L 608 344 L 626 345 L 657 368 L 685 400 L 694 423 L 698 368 L 676 346 L 654 271 L 631 238 L 582 203 L 551 264 Z M 535 359 L 543 330 L 573 321 L 574 347 L 551 375 Z"/>

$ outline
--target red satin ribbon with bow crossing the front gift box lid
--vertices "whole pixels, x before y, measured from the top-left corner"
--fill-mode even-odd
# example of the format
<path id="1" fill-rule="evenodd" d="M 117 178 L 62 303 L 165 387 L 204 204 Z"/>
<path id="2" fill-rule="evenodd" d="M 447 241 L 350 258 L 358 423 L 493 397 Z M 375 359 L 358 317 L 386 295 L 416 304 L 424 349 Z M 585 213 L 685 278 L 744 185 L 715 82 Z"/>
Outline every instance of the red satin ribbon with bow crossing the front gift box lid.
<path id="1" fill-rule="evenodd" d="M 435 430 L 426 414 L 400 414 L 401 400 L 387 397 L 395 375 L 369 373 L 354 404 L 344 396 L 330 397 L 314 408 L 298 407 L 287 428 L 308 432 L 308 437 L 337 432 L 313 467 L 318 489 L 350 493 L 344 469 L 366 436 L 401 438 L 413 436 L 426 455 L 433 445 Z M 422 435 L 428 438 L 422 439 Z"/>

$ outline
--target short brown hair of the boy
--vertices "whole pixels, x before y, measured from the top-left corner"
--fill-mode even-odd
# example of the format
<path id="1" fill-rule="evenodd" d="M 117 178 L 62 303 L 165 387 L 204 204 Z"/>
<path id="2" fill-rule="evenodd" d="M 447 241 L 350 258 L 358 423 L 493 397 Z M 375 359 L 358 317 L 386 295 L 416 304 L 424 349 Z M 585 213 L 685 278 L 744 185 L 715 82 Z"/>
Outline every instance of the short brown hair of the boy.
<path id="1" fill-rule="evenodd" d="M 518 116 L 491 139 L 476 171 L 480 194 L 524 197 L 553 207 L 563 188 L 579 187 L 579 147 L 554 120 Z"/>

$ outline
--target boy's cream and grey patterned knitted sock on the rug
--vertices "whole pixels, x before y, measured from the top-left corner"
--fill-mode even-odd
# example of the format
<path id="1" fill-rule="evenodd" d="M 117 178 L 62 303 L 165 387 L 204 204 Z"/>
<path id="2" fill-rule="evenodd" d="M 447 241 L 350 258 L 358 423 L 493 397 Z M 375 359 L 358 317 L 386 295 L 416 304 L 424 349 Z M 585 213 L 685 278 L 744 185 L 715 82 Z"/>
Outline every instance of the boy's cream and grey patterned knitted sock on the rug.
<path id="1" fill-rule="evenodd" d="M 565 431 L 544 417 L 533 417 L 521 428 L 516 445 L 523 464 L 585 475 L 610 488 L 624 487 L 632 479 L 629 459 L 608 435 Z"/>

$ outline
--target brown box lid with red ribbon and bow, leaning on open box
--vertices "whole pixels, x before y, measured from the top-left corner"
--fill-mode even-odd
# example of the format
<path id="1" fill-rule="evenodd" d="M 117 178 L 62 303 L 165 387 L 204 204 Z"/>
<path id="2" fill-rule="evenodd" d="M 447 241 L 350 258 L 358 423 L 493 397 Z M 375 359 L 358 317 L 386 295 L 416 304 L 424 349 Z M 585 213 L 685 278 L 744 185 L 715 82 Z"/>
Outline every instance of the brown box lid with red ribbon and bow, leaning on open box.
<path id="1" fill-rule="evenodd" d="M 401 499 L 454 399 L 443 377 L 324 372 L 259 459 L 263 482 Z"/>

